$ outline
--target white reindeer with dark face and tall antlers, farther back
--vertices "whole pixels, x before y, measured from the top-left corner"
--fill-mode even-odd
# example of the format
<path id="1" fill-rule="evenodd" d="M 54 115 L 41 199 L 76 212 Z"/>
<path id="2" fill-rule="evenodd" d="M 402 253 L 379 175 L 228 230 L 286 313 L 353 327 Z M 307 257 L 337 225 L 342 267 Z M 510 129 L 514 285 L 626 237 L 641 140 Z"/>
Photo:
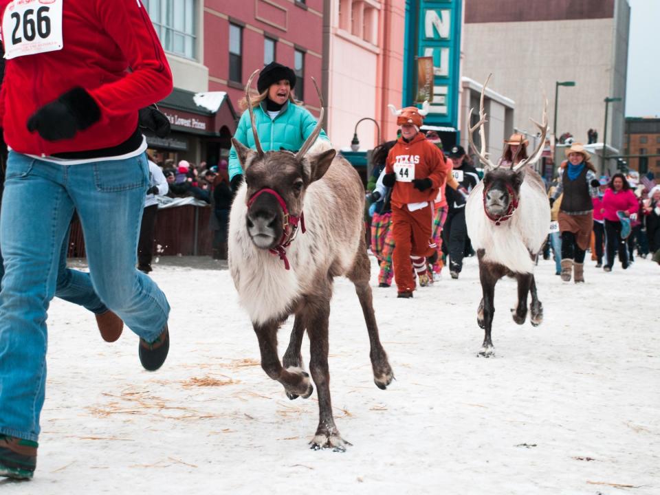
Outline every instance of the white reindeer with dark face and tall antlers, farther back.
<path id="1" fill-rule="evenodd" d="M 518 325 L 527 317 L 527 294 L 531 291 L 531 324 L 538 326 L 543 319 L 543 306 L 536 294 L 533 270 L 536 256 L 547 238 L 550 227 L 550 206 L 541 177 L 529 165 L 543 152 L 548 131 L 545 99 L 542 124 L 532 120 L 541 131 L 538 146 L 530 157 L 510 167 L 494 165 L 485 152 L 486 140 L 483 96 L 488 79 L 481 91 L 479 122 L 470 128 L 468 140 L 483 164 L 484 177 L 470 193 L 465 206 L 467 234 L 479 260 L 479 279 L 483 298 L 479 303 L 477 322 L 485 330 L 479 355 L 494 355 L 490 338 L 492 329 L 495 285 L 505 275 L 518 281 L 518 305 L 511 309 Z M 472 115 L 472 109 L 470 109 Z M 531 120 L 531 119 L 530 119 Z M 481 151 L 476 149 L 472 133 L 479 129 Z M 516 153 L 517 154 L 517 153 Z M 512 160 L 516 162 L 516 157 Z"/>

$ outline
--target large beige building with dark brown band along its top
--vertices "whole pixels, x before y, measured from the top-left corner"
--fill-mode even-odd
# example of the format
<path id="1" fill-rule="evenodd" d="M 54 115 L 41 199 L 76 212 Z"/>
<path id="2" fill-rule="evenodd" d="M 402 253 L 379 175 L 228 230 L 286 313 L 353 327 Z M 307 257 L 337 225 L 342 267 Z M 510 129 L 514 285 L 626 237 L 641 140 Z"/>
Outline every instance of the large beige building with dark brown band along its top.
<path id="1" fill-rule="evenodd" d="M 609 154 L 620 153 L 629 23 L 628 0 L 465 0 L 462 73 L 480 83 L 492 73 L 489 87 L 516 102 L 514 127 L 532 133 L 542 88 L 552 132 L 555 83 L 574 81 L 558 88 L 556 134 L 584 144 L 588 129 L 605 137 L 604 98 L 621 98 L 609 104 L 606 133 Z"/>

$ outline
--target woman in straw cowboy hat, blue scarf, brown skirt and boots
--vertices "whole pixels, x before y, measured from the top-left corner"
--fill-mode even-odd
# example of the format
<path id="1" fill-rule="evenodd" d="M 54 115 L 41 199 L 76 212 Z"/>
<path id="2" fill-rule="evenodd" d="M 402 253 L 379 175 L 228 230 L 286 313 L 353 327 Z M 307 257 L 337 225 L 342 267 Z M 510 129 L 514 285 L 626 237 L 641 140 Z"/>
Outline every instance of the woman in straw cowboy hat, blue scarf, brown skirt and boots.
<path id="1" fill-rule="evenodd" d="M 566 162 L 562 163 L 557 190 L 551 197 L 554 202 L 563 193 L 559 210 L 559 230 L 562 234 L 562 281 L 584 282 L 584 253 L 591 241 L 593 228 L 592 198 L 598 196 L 596 168 L 589 161 L 591 155 L 580 143 L 566 149 Z"/>

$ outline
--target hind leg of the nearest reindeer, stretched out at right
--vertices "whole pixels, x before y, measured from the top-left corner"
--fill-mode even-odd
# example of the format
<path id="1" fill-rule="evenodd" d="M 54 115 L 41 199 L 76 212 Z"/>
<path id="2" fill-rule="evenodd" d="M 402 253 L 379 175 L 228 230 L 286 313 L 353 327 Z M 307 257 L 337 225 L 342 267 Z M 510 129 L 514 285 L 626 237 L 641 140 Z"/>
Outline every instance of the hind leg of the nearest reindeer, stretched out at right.
<path id="1" fill-rule="evenodd" d="M 363 247 L 360 247 L 359 254 L 355 259 L 355 265 L 353 265 L 351 272 L 347 276 L 355 284 L 355 292 L 358 294 L 360 306 L 362 306 L 362 314 L 364 314 L 364 321 L 366 322 L 366 330 L 369 333 L 369 343 L 371 344 L 369 358 L 371 358 L 371 368 L 373 369 L 373 382 L 378 388 L 385 390 L 392 383 L 394 373 L 388 362 L 385 349 L 383 349 L 380 343 L 378 325 L 373 311 L 371 285 L 369 285 L 371 265 L 369 264 L 369 256 L 366 254 L 366 247 L 364 247 L 364 250 L 362 249 Z"/>

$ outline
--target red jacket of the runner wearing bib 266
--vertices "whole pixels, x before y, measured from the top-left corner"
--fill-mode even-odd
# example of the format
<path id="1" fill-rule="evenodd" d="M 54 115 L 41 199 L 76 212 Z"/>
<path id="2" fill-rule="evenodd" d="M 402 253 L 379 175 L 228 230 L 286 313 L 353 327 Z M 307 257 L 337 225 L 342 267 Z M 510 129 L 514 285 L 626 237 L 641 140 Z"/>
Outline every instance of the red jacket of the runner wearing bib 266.
<path id="1" fill-rule="evenodd" d="M 26 4 L 32 12 L 24 10 Z M 0 17 L 10 27 L 2 33 L 5 52 L 10 43 L 39 40 L 58 29 L 58 6 L 61 50 L 6 61 L 0 95 L 5 142 L 19 153 L 41 156 L 118 146 L 135 133 L 137 110 L 172 91 L 151 19 L 140 0 L 0 0 Z M 46 141 L 28 131 L 32 113 L 76 87 L 94 99 L 100 120 L 72 139 Z"/>

